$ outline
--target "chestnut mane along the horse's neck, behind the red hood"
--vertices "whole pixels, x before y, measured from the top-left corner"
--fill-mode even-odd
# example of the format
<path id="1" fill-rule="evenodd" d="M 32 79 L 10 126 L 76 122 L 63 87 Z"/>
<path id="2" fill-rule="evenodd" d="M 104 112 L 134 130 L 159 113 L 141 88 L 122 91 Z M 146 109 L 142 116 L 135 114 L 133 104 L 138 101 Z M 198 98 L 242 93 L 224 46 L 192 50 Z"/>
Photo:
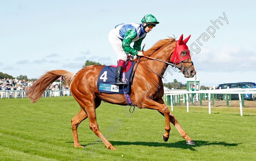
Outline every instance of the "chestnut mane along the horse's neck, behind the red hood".
<path id="1" fill-rule="evenodd" d="M 169 37 L 169 39 L 163 39 L 163 40 L 159 40 L 158 42 L 156 42 L 153 47 L 151 47 L 150 49 L 148 49 L 147 51 L 144 52 L 145 56 L 150 57 L 153 53 L 155 53 L 156 51 L 158 51 L 161 47 L 173 43 L 175 40 L 175 38 L 173 37 Z M 142 60 L 143 59 L 143 60 Z M 144 61 L 144 59 L 146 60 L 147 58 L 142 57 L 141 61 Z"/>

